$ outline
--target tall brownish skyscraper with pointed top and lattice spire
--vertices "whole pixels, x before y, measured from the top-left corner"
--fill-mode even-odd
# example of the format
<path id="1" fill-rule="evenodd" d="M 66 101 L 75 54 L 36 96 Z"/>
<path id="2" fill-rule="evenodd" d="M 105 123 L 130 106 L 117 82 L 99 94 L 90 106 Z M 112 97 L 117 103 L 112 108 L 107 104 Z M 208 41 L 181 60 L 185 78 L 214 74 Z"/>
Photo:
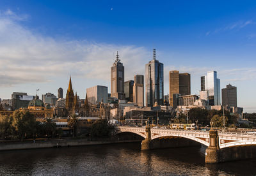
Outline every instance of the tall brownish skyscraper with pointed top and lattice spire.
<path id="1" fill-rule="evenodd" d="M 124 66 L 120 62 L 118 52 L 116 61 L 111 67 L 111 97 L 125 99 L 124 95 Z"/>

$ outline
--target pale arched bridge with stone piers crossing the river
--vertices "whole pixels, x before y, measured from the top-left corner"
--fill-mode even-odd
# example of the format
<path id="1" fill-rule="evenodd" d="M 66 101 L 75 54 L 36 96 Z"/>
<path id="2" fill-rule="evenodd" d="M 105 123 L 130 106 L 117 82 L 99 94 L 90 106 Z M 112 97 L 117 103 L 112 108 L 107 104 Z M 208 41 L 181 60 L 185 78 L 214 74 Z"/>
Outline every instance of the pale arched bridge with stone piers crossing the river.
<path id="1" fill-rule="evenodd" d="M 186 129 L 161 129 L 116 126 L 116 134 L 135 133 L 144 138 L 141 150 L 156 149 L 156 139 L 161 138 L 187 138 L 205 145 L 205 163 L 219 163 L 236 159 L 256 157 L 256 134 L 234 133 L 217 131 L 186 130 Z M 181 147 L 181 146 L 180 146 Z M 234 154 L 234 155 L 233 155 Z"/>

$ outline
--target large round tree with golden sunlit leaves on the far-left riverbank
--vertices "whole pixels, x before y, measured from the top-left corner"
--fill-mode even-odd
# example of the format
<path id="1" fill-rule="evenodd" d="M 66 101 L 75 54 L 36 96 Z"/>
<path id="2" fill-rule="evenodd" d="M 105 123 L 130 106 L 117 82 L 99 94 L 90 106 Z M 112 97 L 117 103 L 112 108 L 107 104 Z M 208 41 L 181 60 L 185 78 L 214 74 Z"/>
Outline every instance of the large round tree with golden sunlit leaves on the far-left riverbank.
<path id="1" fill-rule="evenodd" d="M 29 137 L 34 134 L 36 119 L 33 114 L 25 110 L 15 110 L 15 112 L 13 112 L 12 119 L 14 135 L 21 141 L 25 137 Z"/>

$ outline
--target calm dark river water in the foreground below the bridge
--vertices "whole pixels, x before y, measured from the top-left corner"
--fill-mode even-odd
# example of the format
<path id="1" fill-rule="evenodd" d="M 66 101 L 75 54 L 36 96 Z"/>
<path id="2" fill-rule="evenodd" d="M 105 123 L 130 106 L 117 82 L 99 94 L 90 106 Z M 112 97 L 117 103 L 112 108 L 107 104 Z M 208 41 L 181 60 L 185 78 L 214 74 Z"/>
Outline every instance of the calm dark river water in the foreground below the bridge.
<path id="1" fill-rule="evenodd" d="M 140 143 L 0 152 L 0 175 L 256 175 L 256 159 L 207 165 L 204 147 Z"/>

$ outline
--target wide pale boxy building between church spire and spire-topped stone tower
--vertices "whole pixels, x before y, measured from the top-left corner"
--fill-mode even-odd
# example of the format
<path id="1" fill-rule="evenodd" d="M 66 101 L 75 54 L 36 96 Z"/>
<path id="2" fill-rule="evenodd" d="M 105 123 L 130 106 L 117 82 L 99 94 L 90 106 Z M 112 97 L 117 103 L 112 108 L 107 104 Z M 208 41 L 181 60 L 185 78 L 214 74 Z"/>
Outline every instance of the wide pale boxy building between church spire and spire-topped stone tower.
<path id="1" fill-rule="evenodd" d="M 86 89 L 88 102 L 91 104 L 97 104 L 100 102 L 108 103 L 108 87 L 102 85 L 96 85 Z"/>

